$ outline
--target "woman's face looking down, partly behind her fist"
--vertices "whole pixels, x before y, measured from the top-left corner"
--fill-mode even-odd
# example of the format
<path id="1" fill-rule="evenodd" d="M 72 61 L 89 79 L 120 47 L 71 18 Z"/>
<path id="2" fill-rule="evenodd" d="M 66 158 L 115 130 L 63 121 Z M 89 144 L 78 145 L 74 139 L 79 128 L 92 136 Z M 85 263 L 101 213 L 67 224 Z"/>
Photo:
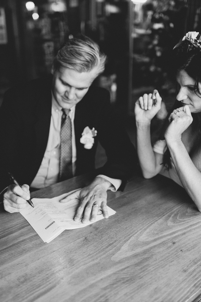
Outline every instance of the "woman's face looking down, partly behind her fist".
<path id="1" fill-rule="evenodd" d="M 180 88 L 177 101 L 182 102 L 183 106 L 188 105 L 191 113 L 201 112 L 201 95 L 199 97 L 199 92 L 196 95 L 194 91 L 195 80 L 186 71 L 181 70 L 177 75 L 177 82 Z M 201 89 L 200 83 L 199 86 Z"/>

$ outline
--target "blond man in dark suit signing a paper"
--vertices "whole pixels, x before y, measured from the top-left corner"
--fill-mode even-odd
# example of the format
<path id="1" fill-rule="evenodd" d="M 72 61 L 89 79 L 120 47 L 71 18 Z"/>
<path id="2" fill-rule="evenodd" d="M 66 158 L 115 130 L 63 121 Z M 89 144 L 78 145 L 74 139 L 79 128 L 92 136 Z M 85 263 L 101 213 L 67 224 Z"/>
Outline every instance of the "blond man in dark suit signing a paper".
<path id="1" fill-rule="evenodd" d="M 105 55 L 94 41 L 72 38 L 58 51 L 51 76 L 6 92 L 0 109 L 1 190 L 8 186 L 5 210 L 29 206 L 29 186 L 43 188 L 94 172 L 90 185 L 69 196 L 80 200 L 74 220 L 83 216 L 83 223 L 95 221 L 100 205 L 108 217 L 106 192 L 123 190 L 134 171 L 136 152 L 112 112 L 109 92 L 91 86 L 104 66 Z M 107 162 L 95 171 L 98 141 Z M 11 185 L 7 172 L 24 185 Z"/>

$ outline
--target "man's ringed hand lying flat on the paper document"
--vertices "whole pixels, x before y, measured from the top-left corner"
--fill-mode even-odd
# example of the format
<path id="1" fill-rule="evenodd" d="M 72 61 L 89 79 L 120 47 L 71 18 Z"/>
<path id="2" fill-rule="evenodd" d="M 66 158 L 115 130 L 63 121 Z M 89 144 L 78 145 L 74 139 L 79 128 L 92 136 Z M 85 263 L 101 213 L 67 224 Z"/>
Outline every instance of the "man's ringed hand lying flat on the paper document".
<path id="1" fill-rule="evenodd" d="M 103 216 L 108 218 L 107 190 L 110 186 L 109 181 L 102 177 L 96 177 L 90 185 L 73 192 L 60 202 L 79 199 L 80 203 L 74 217 L 75 221 L 82 219 L 82 223 L 87 223 L 88 220 L 94 222 L 99 209 L 97 205 L 102 207 Z"/>

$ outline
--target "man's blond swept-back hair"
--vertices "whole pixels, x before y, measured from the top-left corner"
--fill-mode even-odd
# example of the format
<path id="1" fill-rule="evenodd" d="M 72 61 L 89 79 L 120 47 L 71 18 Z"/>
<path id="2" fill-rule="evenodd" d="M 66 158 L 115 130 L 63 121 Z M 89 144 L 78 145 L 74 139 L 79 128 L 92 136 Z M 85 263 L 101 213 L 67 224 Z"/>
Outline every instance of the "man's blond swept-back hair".
<path id="1" fill-rule="evenodd" d="M 54 70 L 61 67 L 77 72 L 89 72 L 96 68 L 96 77 L 105 69 L 106 56 L 100 52 L 96 42 L 86 36 L 68 40 L 57 53 L 53 62 Z"/>

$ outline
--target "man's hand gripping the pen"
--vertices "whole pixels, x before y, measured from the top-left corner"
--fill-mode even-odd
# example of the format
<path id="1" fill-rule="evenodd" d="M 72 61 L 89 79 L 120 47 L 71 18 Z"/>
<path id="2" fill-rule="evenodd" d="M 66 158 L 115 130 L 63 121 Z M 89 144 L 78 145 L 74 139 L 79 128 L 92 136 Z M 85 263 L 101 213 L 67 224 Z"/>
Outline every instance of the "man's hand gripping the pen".
<path id="1" fill-rule="evenodd" d="M 30 199 L 28 185 L 10 185 L 4 194 L 4 209 L 7 212 L 19 212 L 28 206 L 27 200 Z"/>

